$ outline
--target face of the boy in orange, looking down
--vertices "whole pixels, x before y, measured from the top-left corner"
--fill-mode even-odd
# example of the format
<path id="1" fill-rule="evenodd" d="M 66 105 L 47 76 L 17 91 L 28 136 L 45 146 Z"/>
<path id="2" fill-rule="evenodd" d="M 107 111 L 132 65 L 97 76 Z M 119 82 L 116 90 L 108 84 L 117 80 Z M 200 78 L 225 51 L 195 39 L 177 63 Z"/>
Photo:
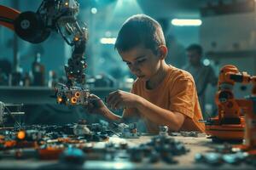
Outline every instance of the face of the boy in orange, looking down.
<path id="1" fill-rule="evenodd" d="M 149 48 L 139 45 L 125 52 L 119 52 L 132 74 L 148 81 L 160 68 L 160 57 Z"/>

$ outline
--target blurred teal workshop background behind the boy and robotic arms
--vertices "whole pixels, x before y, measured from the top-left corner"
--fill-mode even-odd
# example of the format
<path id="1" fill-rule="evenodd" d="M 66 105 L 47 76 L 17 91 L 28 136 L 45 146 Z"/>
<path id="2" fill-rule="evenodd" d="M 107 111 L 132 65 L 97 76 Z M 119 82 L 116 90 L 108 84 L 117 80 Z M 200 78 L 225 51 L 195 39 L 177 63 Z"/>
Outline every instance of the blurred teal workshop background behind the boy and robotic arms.
<path id="1" fill-rule="evenodd" d="M 36 11 L 41 0 L 2 0 L 1 5 L 24 11 Z M 240 71 L 256 74 L 256 14 L 254 0 L 80 0 L 79 20 L 86 23 L 89 40 L 86 47 L 87 87 L 106 97 L 116 89 L 129 91 L 134 81 L 128 67 L 113 48 L 122 23 L 132 14 L 148 14 L 158 20 L 166 35 L 169 54 L 166 62 L 182 68 L 188 63 L 185 48 L 201 44 L 204 65 L 212 65 L 215 74 L 223 65 L 236 65 Z M 175 19 L 197 20 L 196 26 L 178 26 Z M 64 65 L 72 47 L 61 35 L 51 32 L 39 44 L 21 40 L 0 26 L 0 101 L 24 104 L 20 122 L 26 124 L 62 124 L 84 118 L 96 122 L 80 106 L 55 104 L 53 84 L 65 81 Z M 40 71 L 33 71 L 40 65 Z M 39 78 L 33 76 L 37 74 Z M 18 75 L 18 76 L 17 76 Z M 250 86 L 236 85 L 237 98 L 250 94 Z M 207 86 L 204 105 L 215 116 L 216 87 Z M 116 111 L 121 114 L 121 111 Z"/>

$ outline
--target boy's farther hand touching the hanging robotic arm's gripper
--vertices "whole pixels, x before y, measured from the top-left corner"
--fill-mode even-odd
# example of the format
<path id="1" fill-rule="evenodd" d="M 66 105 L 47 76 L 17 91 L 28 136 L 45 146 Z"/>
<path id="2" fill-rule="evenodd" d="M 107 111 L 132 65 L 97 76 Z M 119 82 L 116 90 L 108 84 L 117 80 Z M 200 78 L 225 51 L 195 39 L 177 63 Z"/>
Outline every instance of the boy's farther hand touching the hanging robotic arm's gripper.
<path id="1" fill-rule="evenodd" d="M 85 109 L 89 113 L 95 113 L 102 115 L 105 111 L 108 111 L 107 106 L 103 103 L 102 99 L 100 99 L 95 94 L 90 94 L 88 105 L 85 106 Z"/>

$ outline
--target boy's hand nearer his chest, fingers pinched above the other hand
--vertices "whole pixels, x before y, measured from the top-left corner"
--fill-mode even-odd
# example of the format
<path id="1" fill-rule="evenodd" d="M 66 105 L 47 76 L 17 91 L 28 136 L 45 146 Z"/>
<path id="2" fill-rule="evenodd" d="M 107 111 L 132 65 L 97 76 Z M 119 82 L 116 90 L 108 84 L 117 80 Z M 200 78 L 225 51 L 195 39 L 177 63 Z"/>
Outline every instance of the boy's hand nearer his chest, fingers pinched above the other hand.
<path id="1" fill-rule="evenodd" d="M 107 103 L 112 109 L 125 109 L 136 107 L 141 97 L 122 90 L 117 90 L 108 95 Z"/>

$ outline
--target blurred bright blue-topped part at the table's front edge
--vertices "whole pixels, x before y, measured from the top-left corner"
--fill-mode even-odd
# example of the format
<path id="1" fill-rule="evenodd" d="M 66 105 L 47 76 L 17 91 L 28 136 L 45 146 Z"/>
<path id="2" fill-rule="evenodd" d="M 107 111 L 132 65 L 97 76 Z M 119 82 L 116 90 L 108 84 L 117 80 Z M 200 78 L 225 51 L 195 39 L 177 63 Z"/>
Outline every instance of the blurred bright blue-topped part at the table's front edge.
<path id="1" fill-rule="evenodd" d="M 64 150 L 60 156 L 60 161 L 67 164 L 82 165 L 85 160 L 85 155 L 83 150 L 77 148 L 68 147 Z"/>

